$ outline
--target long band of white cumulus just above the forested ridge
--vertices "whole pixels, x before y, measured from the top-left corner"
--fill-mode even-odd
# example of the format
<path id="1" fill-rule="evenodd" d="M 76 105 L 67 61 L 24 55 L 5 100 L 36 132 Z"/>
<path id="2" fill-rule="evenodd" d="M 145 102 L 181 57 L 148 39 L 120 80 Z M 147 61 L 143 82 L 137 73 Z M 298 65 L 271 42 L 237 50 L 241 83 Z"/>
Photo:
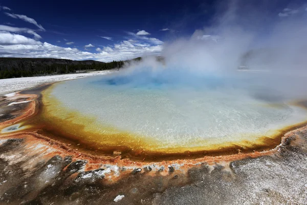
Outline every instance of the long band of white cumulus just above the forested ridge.
<path id="1" fill-rule="evenodd" d="M 64 48 L 60 46 L 54 46 L 49 43 L 35 42 L 34 39 L 32 44 L 28 42 L 26 44 L 15 44 L 15 45 L 2 45 L 0 46 L 0 53 L 3 57 L 53 57 L 53 58 L 65 58 L 65 59 L 95 59 L 100 61 L 113 61 L 113 60 L 126 60 L 135 58 L 143 55 L 158 55 L 162 51 L 162 46 L 149 46 L 141 47 L 137 45 L 130 45 L 129 43 L 122 42 L 112 47 L 97 48 L 98 53 L 83 52 L 77 48 Z M 7 43 L 8 41 L 6 41 Z M 14 43 L 17 43 L 16 41 Z M 37 44 L 37 45 L 34 45 Z"/>

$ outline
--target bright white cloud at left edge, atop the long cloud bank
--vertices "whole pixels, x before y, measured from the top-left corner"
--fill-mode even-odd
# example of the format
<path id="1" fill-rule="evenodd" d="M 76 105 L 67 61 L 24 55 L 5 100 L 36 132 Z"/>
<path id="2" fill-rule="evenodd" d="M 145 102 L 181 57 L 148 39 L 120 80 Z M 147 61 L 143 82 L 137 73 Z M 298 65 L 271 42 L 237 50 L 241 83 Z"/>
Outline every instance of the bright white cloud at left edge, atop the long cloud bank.
<path id="1" fill-rule="evenodd" d="M 19 34 L 12 33 L 0 33 L 0 45 L 13 45 L 13 44 L 23 44 L 23 45 L 40 45 L 38 42 L 32 38 L 28 38 Z"/>

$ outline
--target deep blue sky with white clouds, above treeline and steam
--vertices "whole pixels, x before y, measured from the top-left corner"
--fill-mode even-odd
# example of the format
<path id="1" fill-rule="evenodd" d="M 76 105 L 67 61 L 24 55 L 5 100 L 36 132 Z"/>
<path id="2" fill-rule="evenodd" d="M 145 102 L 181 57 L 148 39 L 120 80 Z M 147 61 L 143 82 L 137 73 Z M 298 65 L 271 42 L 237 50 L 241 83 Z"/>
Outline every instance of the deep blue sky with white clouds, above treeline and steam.
<path id="1" fill-rule="evenodd" d="M 304 1 L 283 0 L 1 1 L 0 56 L 112 61 L 160 55 L 168 42 L 214 26 L 229 2 L 240 14 L 261 11 L 270 22 L 305 11 Z M 248 25 L 244 19 L 240 24 Z"/>

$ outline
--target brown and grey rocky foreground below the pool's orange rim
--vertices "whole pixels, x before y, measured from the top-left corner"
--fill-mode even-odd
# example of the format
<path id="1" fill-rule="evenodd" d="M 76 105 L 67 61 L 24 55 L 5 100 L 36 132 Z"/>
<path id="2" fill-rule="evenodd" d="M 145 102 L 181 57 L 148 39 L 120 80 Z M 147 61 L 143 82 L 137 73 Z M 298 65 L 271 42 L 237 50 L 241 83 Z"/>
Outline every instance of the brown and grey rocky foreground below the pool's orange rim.
<path id="1" fill-rule="evenodd" d="M 307 204 L 307 131 L 272 156 L 204 163 L 180 174 L 127 171 L 110 182 L 107 169 L 85 172 L 86 160 L 28 157 L 26 140 L 1 140 L 1 204 Z M 34 149 L 34 147 L 32 147 Z M 29 155 L 30 156 L 30 155 Z M 39 160 L 37 160 L 39 159 Z M 35 163 L 33 163 L 35 162 Z M 118 197 L 119 196 L 119 197 Z M 122 197 L 124 196 L 124 197 Z M 115 200 L 115 199 L 120 200 Z"/>

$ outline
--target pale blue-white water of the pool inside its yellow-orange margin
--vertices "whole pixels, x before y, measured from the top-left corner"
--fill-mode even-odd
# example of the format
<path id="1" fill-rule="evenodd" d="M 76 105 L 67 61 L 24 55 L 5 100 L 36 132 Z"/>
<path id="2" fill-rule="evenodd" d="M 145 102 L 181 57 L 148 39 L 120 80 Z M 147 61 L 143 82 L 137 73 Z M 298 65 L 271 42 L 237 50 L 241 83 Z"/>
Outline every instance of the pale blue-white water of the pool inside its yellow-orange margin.
<path id="1" fill-rule="evenodd" d="M 302 108 L 272 100 L 273 94 L 259 97 L 237 83 L 242 79 L 233 80 L 232 86 L 220 78 L 213 83 L 212 78 L 210 83 L 196 79 L 200 83 L 195 84 L 141 79 L 99 76 L 65 81 L 53 88 L 51 96 L 69 110 L 95 116 L 101 125 L 154 138 L 161 147 L 269 135 L 307 116 Z"/>

